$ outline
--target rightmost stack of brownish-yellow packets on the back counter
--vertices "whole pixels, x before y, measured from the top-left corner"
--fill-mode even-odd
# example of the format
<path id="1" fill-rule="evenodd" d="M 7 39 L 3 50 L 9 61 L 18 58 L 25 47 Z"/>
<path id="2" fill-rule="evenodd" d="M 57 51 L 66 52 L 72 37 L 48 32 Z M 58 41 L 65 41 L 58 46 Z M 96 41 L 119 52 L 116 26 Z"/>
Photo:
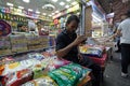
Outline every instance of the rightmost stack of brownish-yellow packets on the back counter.
<path id="1" fill-rule="evenodd" d="M 27 44 L 28 44 L 28 49 L 39 49 L 39 48 L 43 48 L 43 47 L 48 47 L 48 35 L 34 35 L 34 37 L 27 37 Z"/>

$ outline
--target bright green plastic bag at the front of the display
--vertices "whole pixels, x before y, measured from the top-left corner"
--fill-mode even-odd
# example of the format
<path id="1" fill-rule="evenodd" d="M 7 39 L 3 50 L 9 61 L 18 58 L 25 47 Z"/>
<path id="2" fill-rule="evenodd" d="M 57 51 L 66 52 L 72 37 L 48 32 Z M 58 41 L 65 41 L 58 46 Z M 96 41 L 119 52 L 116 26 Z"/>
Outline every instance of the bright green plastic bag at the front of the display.
<path id="1" fill-rule="evenodd" d="M 57 82 L 58 86 L 76 86 L 77 82 L 90 72 L 79 64 L 69 63 L 49 72 L 49 75 Z"/>

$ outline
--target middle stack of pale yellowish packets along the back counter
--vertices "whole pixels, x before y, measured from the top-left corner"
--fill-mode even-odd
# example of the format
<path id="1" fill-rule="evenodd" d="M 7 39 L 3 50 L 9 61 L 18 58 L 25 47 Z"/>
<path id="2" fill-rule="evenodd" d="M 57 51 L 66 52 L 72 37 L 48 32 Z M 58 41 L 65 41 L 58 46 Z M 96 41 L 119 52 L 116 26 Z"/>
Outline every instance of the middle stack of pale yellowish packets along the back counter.
<path id="1" fill-rule="evenodd" d="M 17 35 L 11 35 L 11 44 L 12 44 L 12 52 L 13 53 L 21 53 L 21 52 L 27 52 L 27 40 L 25 35 L 17 34 Z"/>

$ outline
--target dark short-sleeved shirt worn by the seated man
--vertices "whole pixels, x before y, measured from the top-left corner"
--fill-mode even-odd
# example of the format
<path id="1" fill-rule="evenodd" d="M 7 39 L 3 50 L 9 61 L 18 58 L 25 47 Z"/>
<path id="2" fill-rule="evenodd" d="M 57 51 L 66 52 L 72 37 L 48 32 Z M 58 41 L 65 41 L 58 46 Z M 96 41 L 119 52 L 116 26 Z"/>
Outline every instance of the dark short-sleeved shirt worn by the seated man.
<path id="1" fill-rule="evenodd" d="M 56 38 L 56 51 L 62 49 L 69 45 L 77 38 L 76 33 L 69 33 L 67 30 L 63 30 Z M 66 56 L 63 58 L 69 61 L 78 62 L 78 48 L 73 47 Z"/>

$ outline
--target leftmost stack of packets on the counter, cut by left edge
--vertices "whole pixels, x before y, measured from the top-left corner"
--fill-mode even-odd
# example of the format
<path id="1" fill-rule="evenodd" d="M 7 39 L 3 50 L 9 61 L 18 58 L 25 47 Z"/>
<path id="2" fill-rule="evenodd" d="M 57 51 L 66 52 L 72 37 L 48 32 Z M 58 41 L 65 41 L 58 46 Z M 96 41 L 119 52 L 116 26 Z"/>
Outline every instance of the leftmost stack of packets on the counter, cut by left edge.
<path id="1" fill-rule="evenodd" d="M 11 54 L 11 43 L 9 37 L 0 38 L 0 55 Z"/>

